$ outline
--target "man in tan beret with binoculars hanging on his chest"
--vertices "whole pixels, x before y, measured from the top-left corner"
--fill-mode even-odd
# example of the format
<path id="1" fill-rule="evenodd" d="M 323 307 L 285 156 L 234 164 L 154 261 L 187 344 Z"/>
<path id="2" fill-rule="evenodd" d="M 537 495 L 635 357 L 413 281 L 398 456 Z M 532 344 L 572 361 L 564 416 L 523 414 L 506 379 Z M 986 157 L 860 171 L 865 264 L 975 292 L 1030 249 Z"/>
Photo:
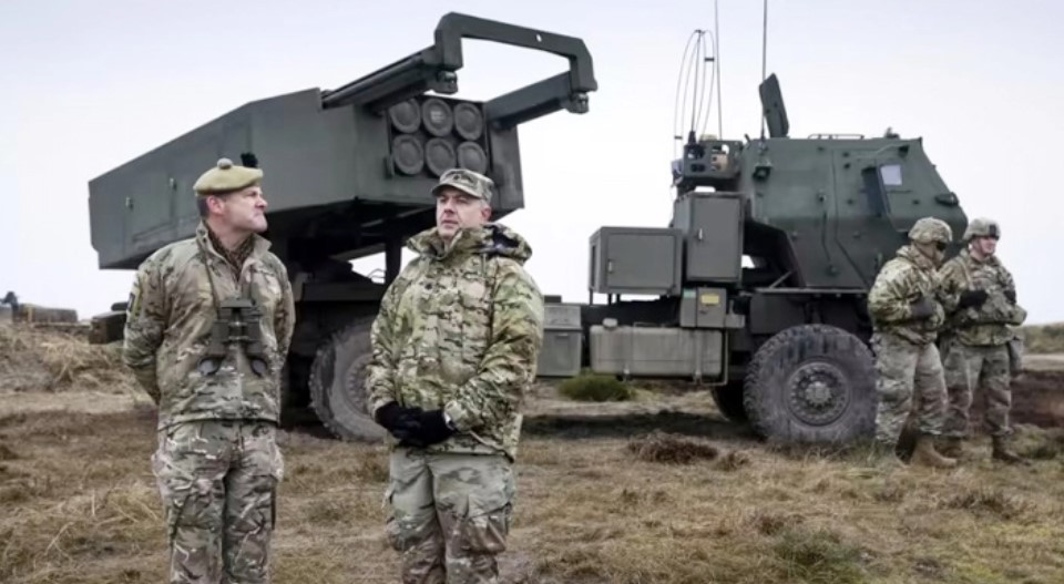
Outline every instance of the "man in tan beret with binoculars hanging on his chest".
<path id="1" fill-rule="evenodd" d="M 158 407 L 152 467 L 171 583 L 269 581 L 280 371 L 295 310 L 262 171 L 222 158 L 194 185 L 196 235 L 140 266 L 123 358 Z"/>

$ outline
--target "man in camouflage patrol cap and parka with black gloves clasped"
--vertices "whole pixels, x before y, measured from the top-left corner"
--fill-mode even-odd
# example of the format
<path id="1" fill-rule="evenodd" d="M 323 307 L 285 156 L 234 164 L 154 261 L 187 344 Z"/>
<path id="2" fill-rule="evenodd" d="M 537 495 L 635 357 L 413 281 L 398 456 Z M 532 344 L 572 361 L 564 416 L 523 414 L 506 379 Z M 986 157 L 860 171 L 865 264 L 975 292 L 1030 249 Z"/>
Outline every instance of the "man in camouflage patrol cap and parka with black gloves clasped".
<path id="1" fill-rule="evenodd" d="M 369 411 L 391 440 L 388 541 L 405 584 L 495 583 L 514 501 L 521 407 L 543 344 L 543 297 L 520 235 L 488 223 L 492 182 L 448 171 L 437 226 L 374 324 Z"/>

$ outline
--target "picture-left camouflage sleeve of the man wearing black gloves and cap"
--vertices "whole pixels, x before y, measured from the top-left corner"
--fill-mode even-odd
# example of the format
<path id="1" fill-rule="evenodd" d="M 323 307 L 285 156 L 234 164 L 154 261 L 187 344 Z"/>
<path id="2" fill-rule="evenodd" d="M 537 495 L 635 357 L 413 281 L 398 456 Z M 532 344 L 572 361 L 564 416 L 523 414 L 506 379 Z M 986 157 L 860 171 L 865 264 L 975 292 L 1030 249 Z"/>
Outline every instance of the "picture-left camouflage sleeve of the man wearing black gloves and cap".
<path id="1" fill-rule="evenodd" d="M 374 319 L 370 328 L 369 339 L 372 357 L 366 368 L 366 393 L 368 396 L 367 409 L 372 416 L 377 410 L 388 403 L 396 401 L 396 367 L 399 362 L 398 339 L 396 338 L 396 319 L 398 318 L 397 307 L 402 290 L 406 289 L 410 279 L 413 263 L 408 264 L 407 268 L 397 277 L 380 300 L 380 307 L 377 310 L 377 318 Z"/>

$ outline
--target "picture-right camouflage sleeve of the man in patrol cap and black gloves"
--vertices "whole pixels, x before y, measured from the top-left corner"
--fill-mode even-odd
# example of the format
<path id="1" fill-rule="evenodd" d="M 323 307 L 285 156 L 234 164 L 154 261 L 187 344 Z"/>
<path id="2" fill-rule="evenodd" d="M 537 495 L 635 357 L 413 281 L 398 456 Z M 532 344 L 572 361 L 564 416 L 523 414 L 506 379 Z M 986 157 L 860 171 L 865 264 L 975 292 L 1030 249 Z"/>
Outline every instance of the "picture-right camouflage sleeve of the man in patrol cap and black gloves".
<path id="1" fill-rule="evenodd" d="M 443 411 L 459 431 L 492 424 L 518 409 L 543 347 L 543 296 L 515 263 L 503 264 L 492 295 L 491 339 L 477 373 Z"/>

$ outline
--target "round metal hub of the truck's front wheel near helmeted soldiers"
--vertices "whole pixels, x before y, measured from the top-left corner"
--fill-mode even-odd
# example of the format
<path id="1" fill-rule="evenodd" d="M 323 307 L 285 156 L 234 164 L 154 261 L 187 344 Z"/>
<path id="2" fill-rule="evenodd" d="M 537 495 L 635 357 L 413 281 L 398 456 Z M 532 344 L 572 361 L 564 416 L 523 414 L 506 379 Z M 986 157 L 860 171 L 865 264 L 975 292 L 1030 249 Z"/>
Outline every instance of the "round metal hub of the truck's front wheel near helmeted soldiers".
<path id="1" fill-rule="evenodd" d="M 798 367 L 787 381 L 787 396 L 791 412 L 812 426 L 837 420 L 849 402 L 846 376 L 827 362 Z"/>

